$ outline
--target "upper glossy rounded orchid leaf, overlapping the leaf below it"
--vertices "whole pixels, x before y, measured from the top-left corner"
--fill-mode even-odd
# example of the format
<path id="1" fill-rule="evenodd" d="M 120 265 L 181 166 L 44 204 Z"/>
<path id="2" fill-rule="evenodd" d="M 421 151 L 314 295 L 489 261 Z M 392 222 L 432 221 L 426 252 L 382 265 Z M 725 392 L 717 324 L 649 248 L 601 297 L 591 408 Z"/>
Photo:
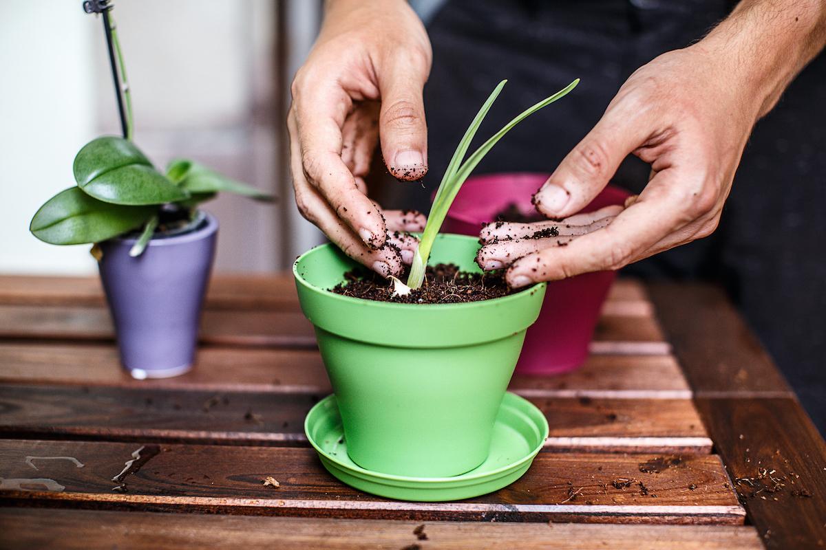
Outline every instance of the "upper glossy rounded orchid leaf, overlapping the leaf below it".
<path id="1" fill-rule="evenodd" d="M 87 195 L 112 204 L 164 204 L 189 196 L 133 143 L 114 136 L 93 139 L 80 149 L 74 180 Z"/>

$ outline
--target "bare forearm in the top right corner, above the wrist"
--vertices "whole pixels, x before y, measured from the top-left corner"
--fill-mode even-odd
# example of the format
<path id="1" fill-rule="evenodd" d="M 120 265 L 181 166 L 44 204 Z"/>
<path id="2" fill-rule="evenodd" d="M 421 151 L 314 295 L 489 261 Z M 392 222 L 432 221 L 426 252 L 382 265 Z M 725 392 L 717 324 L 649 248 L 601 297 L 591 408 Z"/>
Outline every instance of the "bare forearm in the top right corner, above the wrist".
<path id="1" fill-rule="evenodd" d="M 759 118 L 824 45 L 824 0 L 743 0 L 696 47 L 724 63 Z"/>

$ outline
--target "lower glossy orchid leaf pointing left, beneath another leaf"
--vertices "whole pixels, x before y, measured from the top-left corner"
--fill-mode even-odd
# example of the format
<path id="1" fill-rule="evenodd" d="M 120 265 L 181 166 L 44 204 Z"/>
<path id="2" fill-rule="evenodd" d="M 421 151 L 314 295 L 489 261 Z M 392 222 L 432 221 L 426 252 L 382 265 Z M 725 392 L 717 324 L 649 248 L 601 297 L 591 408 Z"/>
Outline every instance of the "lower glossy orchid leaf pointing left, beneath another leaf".
<path id="1" fill-rule="evenodd" d="M 35 237 L 51 244 L 101 242 L 139 227 L 157 210 L 153 206 L 106 203 L 69 187 L 40 207 L 29 229 Z"/>

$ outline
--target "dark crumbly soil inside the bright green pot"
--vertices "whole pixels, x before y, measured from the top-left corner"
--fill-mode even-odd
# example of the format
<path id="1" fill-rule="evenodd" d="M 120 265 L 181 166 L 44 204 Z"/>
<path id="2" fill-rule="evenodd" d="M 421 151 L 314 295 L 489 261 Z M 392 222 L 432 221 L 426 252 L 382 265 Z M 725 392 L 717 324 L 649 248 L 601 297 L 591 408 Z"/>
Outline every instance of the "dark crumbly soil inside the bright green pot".
<path id="1" fill-rule="evenodd" d="M 358 268 L 344 274 L 346 282 L 335 285 L 332 292 L 354 298 L 395 303 L 464 303 L 501 298 L 521 289 L 510 290 L 504 271 L 469 273 L 454 264 L 428 266 L 420 289 L 406 296 L 393 296 L 393 284 L 381 275 Z M 406 280 L 403 275 L 401 280 Z"/>

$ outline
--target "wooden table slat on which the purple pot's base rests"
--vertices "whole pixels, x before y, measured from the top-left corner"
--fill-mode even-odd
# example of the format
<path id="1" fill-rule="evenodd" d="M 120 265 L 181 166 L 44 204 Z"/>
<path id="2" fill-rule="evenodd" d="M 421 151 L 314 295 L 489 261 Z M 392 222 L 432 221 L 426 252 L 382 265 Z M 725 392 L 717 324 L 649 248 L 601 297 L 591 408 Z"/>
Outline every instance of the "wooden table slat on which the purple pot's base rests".
<path id="1" fill-rule="evenodd" d="M 135 380 L 121 369 L 112 344 L 0 341 L 0 382 L 81 384 L 202 391 L 330 393 L 316 350 L 207 346 L 190 373 Z M 572 373 L 516 375 L 510 389 L 532 397 L 688 398 L 679 366 L 669 355 L 591 355 Z"/>

